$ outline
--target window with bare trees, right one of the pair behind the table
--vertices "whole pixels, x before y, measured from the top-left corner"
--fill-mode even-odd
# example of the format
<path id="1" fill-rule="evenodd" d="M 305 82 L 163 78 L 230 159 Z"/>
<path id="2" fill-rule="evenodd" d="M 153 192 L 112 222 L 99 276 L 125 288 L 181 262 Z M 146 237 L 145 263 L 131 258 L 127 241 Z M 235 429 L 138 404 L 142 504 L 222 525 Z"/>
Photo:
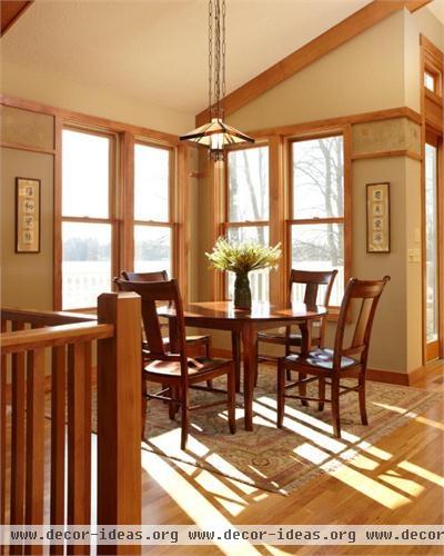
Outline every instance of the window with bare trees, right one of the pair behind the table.
<path id="1" fill-rule="evenodd" d="M 302 270 L 339 270 L 331 305 L 344 292 L 343 137 L 291 143 L 291 265 Z M 295 291 L 295 296 L 302 297 Z"/>

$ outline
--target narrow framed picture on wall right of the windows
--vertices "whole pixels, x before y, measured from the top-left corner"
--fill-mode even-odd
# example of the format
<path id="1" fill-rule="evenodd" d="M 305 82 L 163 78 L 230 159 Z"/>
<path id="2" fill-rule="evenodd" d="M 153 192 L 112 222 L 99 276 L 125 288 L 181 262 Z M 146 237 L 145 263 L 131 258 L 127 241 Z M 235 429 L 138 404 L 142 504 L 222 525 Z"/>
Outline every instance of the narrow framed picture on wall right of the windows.
<path id="1" fill-rule="evenodd" d="M 391 252 L 390 182 L 366 185 L 367 252 Z"/>

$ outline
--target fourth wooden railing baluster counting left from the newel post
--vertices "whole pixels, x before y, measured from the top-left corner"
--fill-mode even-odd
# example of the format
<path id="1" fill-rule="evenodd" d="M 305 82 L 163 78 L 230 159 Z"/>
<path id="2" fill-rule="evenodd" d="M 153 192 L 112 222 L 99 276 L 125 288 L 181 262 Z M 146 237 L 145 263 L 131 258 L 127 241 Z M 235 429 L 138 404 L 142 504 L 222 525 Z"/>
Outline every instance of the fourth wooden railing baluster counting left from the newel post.
<path id="1" fill-rule="evenodd" d="M 23 322 L 12 322 L 12 330 L 23 330 Z M 12 355 L 11 370 L 11 517 L 12 525 L 24 523 L 24 353 Z M 16 547 L 12 547 L 16 548 Z"/>

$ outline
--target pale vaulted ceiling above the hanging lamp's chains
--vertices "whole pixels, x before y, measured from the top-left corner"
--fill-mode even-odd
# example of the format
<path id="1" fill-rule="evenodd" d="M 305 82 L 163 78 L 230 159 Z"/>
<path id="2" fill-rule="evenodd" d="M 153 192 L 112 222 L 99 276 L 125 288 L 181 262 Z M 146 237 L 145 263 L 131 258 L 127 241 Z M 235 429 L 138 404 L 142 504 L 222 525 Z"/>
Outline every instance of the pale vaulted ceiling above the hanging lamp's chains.
<path id="1" fill-rule="evenodd" d="M 226 92 L 367 2 L 226 0 Z M 38 0 L 1 39 L 2 59 L 195 113 L 208 101 L 206 26 L 208 0 Z"/>

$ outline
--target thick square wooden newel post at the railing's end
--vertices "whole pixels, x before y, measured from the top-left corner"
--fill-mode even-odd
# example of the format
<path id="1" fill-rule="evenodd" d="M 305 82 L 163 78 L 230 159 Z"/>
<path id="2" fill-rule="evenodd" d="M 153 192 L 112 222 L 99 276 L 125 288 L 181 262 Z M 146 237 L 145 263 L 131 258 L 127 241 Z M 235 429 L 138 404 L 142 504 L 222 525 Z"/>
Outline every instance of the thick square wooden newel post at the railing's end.
<path id="1" fill-rule="evenodd" d="M 98 345 L 98 524 L 139 525 L 141 493 L 141 302 L 137 294 L 102 294 L 99 324 L 112 338 Z M 129 554 L 139 547 L 102 546 Z M 112 552 L 110 552 L 112 549 Z"/>

